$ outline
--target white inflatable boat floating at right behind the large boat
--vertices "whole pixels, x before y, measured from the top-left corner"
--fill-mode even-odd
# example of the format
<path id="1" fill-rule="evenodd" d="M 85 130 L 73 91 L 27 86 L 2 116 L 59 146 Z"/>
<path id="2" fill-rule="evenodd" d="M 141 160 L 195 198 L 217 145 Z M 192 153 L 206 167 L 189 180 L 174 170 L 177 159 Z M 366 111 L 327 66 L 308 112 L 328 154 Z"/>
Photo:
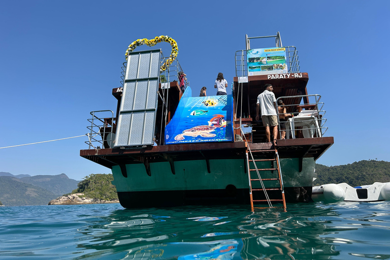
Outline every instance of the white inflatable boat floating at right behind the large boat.
<path id="1" fill-rule="evenodd" d="M 313 201 L 390 201 L 390 182 L 375 182 L 371 185 L 352 187 L 346 183 L 323 184 L 314 186 L 311 194 Z"/>

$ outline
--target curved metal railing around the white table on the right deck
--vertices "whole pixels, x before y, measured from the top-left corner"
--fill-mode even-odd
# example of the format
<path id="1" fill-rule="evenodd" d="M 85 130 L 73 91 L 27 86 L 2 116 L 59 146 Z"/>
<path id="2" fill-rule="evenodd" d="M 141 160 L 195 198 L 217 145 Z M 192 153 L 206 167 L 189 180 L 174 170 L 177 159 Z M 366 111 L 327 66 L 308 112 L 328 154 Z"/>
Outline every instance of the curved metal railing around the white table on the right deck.
<path id="1" fill-rule="evenodd" d="M 304 100 L 305 103 L 293 104 L 292 102 L 297 98 L 300 101 Z M 289 138 L 289 136 L 296 138 L 296 131 L 298 136 L 301 136 L 299 132 L 302 132 L 303 138 L 322 137 L 328 127 L 324 126 L 327 121 L 324 117 L 326 111 L 323 110 L 324 103 L 319 102 L 320 99 L 321 96 L 318 94 L 280 96 L 276 100 L 279 139 Z M 279 100 L 282 100 L 284 105 L 279 105 Z M 285 113 L 279 113 L 281 107 L 286 108 Z M 279 116 L 284 116 L 284 120 L 281 121 Z"/>

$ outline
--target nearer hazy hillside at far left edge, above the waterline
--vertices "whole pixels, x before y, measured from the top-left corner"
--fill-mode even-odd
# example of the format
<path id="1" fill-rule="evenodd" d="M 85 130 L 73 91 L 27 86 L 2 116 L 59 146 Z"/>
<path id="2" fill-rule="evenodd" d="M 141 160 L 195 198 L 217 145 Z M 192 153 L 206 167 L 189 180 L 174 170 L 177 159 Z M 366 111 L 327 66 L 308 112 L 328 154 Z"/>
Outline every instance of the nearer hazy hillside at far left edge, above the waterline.
<path id="1" fill-rule="evenodd" d="M 0 199 L 5 206 L 47 205 L 56 194 L 18 178 L 0 177 Z"/>

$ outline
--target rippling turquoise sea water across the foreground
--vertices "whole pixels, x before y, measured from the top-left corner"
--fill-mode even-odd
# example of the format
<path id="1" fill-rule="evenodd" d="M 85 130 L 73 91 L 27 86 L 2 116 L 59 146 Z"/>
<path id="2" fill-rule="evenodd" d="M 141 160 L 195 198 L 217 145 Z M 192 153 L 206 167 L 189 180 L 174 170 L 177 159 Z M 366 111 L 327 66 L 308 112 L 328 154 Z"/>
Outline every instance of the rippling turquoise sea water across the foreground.
<path id="1" fill-rule="evenodd" d="M 390 202 L 0 207 L 0 259 L 390 259 Z"/>

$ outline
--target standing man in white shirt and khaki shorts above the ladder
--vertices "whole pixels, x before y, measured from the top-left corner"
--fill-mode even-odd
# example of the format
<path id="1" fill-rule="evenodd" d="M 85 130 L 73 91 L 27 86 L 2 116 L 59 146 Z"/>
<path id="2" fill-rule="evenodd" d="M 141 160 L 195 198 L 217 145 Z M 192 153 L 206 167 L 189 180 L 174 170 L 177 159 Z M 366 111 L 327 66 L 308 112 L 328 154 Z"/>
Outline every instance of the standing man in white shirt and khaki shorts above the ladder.
<path id="1" fill-rule="evenodd" d="M 278 136 L 278 117 L 277 117 L 277 107 L 275 94 L 273 93 L 274 88 L 271 84 L 264 85 L 264 92 L 257 96 L 256 104 L 256 121 L 258 121 L 259 116 L 258 112 L 261 110 L 263 125 L 266 127 L 266 137 L 268 143 L 271 143 L 271 132 L 270 127 L 272 127 L 272 134 L 274 136 L 274 142 L 276 142 Z"/>

